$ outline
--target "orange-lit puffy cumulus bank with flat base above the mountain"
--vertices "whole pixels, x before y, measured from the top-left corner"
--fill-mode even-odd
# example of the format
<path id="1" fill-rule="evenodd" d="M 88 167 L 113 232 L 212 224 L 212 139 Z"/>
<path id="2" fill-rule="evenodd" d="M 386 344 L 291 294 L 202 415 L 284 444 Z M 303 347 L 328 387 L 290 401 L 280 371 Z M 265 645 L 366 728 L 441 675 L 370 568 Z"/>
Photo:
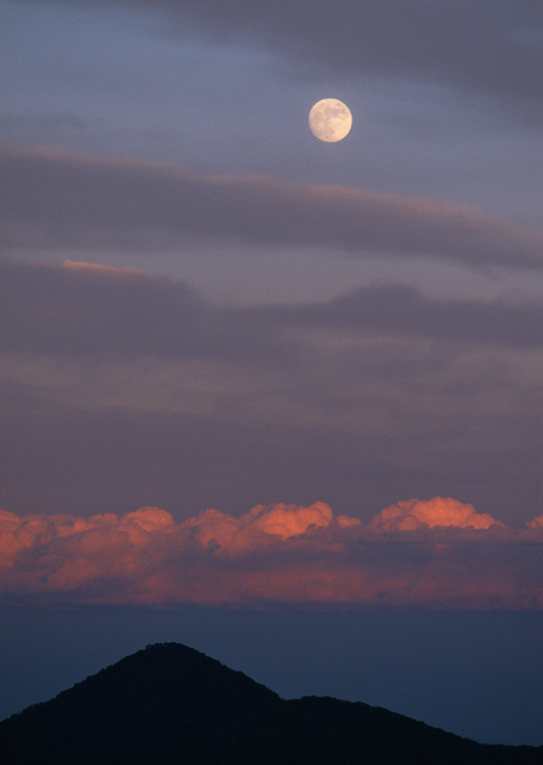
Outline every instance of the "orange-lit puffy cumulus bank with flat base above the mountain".
<path id="1" fill-rule="evenodd" d="M 158 508 L 80 518 L 0 512 L 8 602 L 297 603 L 543 608 L 541 524 L 515 531 L 451 498 L 409 500 L 367 526 L 329 505 Z"/>

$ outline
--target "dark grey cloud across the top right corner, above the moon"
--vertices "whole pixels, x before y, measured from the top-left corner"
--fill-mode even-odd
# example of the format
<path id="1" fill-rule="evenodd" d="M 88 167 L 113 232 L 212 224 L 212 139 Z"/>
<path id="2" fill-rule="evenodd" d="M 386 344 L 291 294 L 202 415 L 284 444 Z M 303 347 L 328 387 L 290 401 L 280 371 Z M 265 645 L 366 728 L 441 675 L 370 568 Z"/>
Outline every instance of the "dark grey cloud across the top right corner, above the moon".
<path id="1" fill-rule="evenodd" d="M 170 33 L 264 45 L 293 64 L 306 63 L 312 80 L 332 71 L 429 81 L 543 120 L 538 0 L 231 0 L 220 13 L 214 0 L 106 5 L 160 11 Z"/>

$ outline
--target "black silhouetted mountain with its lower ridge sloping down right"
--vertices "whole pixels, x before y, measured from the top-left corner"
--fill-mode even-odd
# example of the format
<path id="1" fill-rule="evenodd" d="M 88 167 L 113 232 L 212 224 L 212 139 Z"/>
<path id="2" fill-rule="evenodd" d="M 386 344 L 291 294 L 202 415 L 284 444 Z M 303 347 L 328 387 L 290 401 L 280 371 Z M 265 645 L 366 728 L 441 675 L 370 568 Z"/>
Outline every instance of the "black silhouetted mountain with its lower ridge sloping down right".
<path id="1" fill-rule="evenodd" d="M 0 761 L 543 765 L 543 748 L 484 746 L 364 703 L 284 701 L 168 643 L 0 722 Z"/>

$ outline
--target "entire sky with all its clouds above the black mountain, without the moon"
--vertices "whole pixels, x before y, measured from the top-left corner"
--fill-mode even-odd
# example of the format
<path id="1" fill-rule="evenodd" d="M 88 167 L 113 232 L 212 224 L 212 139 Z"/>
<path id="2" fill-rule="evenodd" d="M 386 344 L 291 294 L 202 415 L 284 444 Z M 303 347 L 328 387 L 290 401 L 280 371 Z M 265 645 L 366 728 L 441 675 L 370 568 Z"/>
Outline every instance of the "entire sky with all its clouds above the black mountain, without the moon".
<path id="1" fill-rule="evenodd" d="M 543 743 L 538 0 L 0 0 L 0 51 L 0 714 L 152 637 Z"/>

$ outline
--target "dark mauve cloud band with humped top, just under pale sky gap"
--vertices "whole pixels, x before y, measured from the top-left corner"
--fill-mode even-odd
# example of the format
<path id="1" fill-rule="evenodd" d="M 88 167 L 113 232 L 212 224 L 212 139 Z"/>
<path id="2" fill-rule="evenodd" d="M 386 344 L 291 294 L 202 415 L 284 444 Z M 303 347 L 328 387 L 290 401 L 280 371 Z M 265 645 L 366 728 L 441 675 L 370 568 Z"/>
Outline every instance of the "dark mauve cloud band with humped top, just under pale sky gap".
<path id="1" fill-rule="evenodd" d="M 184 282 L 166 277 L 86 263 L 0 259 L 4 352 L 292 363 L 294 349 L 307 342 L 304 330 L 530 349 L 543 343 L 541 311 L 536 301 L 437 301 L 394 286 L 359 288 L 309 306 L 215 308 Z M 395 364 L 403 366 L 402 359 Z"/>

